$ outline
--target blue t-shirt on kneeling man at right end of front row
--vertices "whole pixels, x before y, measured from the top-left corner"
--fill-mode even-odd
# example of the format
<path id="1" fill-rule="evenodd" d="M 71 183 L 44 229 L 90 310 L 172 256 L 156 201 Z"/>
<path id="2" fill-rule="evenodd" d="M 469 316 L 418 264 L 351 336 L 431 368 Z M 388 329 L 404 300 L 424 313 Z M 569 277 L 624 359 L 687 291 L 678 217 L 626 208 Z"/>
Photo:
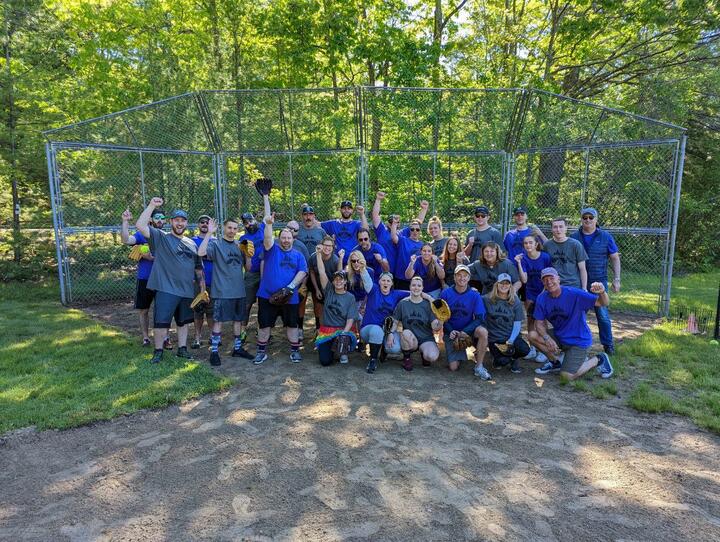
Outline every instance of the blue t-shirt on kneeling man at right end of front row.
<path id="1" fill-rule="evenodd" d="M 597 295 L 580 288 L 562 286 L 558 297 L 551 297 L 547 292 L 537 297 L 533 317 L 550 322 L 558 342 L 590 348 L 592 334 L 585 313 L 595 306 L 597 298 Z"/>

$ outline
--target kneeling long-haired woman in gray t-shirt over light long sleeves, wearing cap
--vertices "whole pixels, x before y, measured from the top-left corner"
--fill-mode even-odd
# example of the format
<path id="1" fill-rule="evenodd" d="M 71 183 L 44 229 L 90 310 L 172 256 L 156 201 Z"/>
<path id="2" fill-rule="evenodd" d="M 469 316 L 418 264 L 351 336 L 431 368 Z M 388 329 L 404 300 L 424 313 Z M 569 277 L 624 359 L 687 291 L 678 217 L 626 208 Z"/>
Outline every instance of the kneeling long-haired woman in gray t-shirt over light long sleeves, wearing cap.
<path id="1" fill-rule="evenodd" d="M 490 293 L 483 296 L 483 303 L 493 367 L 510 365 L 513 373 L 521 373 L 520 358 L 528 355 L 530 346 L 520 334 L 525 311 L 513 290 L 512 277 L 507 273 L 498 275 Z"/>

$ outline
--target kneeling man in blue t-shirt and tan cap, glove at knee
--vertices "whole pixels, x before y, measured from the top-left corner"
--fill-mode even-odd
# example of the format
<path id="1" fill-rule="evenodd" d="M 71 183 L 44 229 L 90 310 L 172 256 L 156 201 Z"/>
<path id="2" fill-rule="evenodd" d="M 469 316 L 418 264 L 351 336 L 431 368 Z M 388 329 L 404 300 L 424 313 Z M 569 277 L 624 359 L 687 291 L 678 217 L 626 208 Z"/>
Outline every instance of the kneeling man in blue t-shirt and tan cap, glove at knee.
<path id="1" fill-rule="evenodd" d="M 483 325 L 485 322 L 485 305 L 482 296 L 475 288 L 470 287 L 470 268 L 467 265 L 455 266 L 453 286 L 445 288 L 440 294 L 450 307 L 450 319 L 443 324 L 445 353 L 448 369 L 457 371 L 460 363 L 467 360 L 464 348 L 455 350 L 453 341 L 460 333 L 470 336 L 475 345 L 475 376 L 482 380 L 492 377 L 483 365 L 487 349 L 488 333 Z"/>

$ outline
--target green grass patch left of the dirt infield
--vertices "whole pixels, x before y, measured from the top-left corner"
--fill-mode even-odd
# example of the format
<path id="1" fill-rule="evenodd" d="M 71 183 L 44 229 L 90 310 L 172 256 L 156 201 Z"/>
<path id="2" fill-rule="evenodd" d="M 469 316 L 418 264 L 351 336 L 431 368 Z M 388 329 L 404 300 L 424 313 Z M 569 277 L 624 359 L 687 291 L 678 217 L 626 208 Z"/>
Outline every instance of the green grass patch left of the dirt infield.
<path id="1" fill-rule="evenodd" d="M 0 285 L 0 433 L 67 428 L 157 408 L 232 384 L 206 366 L 149 352 L 62 307 L 56 282 Z"/>

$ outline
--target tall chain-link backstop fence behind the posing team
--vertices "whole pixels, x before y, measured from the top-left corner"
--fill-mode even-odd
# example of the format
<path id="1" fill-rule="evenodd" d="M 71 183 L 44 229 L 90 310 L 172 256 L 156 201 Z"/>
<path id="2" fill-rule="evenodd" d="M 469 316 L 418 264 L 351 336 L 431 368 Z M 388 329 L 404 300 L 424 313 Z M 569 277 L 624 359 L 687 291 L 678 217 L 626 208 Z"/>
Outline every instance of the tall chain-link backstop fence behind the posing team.
<path id="1" fill-rule="evenodd" d="M 524 205 L 549 234 L 596 207 L 623 262 L 620 305 L 667 312 L 684 129 L 528 89 L 201 91 L 45 132 L 64 303 L 129 299 L 135 264 L 120 216 L 160 196 L 223 220 L 262 202 L 273 179 L 278 225 L 309 203 L 319 219 L 341 201 L 388 194 L 404 221 L 430 202 L 446 230 L 470 229 L 475 206 L 513 227 Z M 131 233 L 134 230 L 131 229 Z"/>

